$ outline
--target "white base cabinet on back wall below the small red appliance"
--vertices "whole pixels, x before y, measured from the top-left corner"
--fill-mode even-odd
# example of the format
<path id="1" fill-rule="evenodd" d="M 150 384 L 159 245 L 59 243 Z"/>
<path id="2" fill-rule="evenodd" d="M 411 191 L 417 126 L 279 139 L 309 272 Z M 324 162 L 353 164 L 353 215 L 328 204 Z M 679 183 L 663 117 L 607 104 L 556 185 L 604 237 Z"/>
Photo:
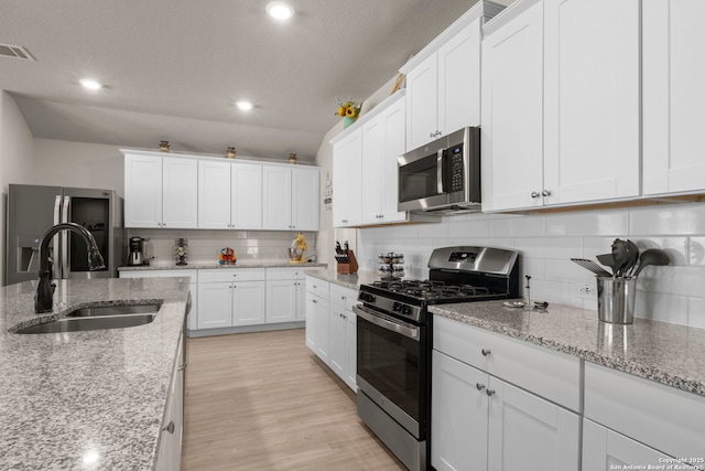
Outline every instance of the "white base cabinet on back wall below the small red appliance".
<path id="1" fill-rule="evenodd" d="M 199 270 L 198 277 L 199 330 L 264 323 L 264 269 Z"/>

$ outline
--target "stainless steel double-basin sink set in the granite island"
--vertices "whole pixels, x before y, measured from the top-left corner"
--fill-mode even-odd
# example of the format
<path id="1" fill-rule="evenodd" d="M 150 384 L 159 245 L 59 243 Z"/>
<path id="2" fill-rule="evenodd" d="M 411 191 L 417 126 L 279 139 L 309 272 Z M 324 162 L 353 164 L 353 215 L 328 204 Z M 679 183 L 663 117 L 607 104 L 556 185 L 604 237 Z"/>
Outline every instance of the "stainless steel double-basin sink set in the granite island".
<path id="1" fill-rule="evenodd" d="M 20 329 L 15 333 L 79 332 L 144 325 L 154 320 L 160 307 L 160 303 L 150 303 L 83 308 L 69 312 L 65 318 Z"/>

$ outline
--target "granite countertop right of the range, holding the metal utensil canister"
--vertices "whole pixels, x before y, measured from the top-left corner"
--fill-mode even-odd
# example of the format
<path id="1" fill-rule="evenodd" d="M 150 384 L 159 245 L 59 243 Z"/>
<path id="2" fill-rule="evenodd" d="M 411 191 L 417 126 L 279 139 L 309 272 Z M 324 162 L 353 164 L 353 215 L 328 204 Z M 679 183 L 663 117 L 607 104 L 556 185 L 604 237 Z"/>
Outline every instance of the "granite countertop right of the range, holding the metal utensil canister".
<path id="1" fill-rule="evenodd" d="M 454 319 L 557 352 L 705 396 L 705 329 L 634 318 L 629 325 L 597 320 L 597 311 L 551 304 L 507 308 L 502 301 L 441 304 Z"/>

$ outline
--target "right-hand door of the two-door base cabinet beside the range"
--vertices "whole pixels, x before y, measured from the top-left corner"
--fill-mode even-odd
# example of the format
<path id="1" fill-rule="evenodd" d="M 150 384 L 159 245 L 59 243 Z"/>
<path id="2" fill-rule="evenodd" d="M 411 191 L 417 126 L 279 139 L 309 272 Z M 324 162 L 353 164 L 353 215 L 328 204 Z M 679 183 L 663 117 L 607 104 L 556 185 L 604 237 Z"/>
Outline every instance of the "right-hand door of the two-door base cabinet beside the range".
<path id="1" fill-rule="evenodd" d="M 579 417 L 490 376 L 490 471 L 571 471 L 579 463 Z"/>

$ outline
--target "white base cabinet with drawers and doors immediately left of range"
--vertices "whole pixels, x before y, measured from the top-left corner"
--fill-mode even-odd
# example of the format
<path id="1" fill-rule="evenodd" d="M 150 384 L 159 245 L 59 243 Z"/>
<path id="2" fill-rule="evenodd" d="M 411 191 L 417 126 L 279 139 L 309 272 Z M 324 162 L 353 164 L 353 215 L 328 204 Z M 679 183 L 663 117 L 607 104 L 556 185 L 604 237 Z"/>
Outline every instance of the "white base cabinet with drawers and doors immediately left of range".
<path id="1" fill-rule="evenodd" d="M 306 278 L 306 345 L 357 392 L 357 290 Z"/>

